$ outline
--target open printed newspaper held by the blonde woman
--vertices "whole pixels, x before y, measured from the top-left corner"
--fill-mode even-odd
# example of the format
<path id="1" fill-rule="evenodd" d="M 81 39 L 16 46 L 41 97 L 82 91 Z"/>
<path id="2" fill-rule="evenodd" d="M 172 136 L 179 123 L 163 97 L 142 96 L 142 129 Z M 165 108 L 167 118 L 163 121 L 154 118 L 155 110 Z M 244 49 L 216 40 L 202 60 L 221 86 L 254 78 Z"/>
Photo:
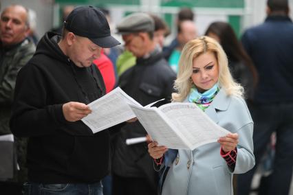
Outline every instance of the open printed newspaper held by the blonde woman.
<path id="1" fill-rule="evenodd" d="M 215 124 L 196 104 L 170 103 L 159 108 L 130 106 L 151 138 L 167 148 L 194 150 L 230 133 Z"/>

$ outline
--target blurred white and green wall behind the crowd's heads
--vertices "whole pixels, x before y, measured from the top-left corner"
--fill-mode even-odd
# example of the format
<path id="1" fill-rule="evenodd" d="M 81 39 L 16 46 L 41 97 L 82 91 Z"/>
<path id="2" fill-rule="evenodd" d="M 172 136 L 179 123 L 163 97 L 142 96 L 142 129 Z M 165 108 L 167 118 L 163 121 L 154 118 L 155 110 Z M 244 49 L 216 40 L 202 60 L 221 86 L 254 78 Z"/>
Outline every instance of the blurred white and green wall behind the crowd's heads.
<path id="1" fill-rule="evenodd" d="M 199 35 L 213 21 L 226 21 L 240 36 L 243 30 L 257 25 L 265 19 L 266 0 L 1 0 L 1 9 L 12 3 L 19 3 L 36 11 L 36 33 L 43 36 L 47 30 L 60 25 L 61 10 L 65 5 L 96 5 L 107 8 L 113 23 L 118 23 L 123 16 L 131 12 L 152 12 L 158 14 L 171 29 L 171 36 L 176 34 L 175 19 L 180 7 L 187 6 L 195 12 L 195 24 Z M 293 0 L 289 0 L 293 8 Z M 290 13 L 293 18 L 293 12 Z"/>

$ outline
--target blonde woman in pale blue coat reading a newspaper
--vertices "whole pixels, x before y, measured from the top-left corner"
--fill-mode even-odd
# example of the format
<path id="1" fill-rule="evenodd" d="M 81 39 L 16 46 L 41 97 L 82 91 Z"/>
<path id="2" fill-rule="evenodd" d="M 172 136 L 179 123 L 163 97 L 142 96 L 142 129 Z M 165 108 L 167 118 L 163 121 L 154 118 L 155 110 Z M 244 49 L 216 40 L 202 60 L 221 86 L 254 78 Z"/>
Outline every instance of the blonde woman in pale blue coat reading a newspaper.
<path id="1" fill-rule="evenodd" d="M 195 150 L 168 150 L 151 142 L 149 154 L 155 169 L 169 166 L 163 174 L 162 194 L 233 194 L 232 175 L 254 166 L 253 122 L 242 97 L 243 88 L 232 79 L 226 54 L 217 41 L 202 36 L 184 46 L 175 89 L 173 102 L 197 104 L 230 133 Z M 174 151 L 172 158 L 169 153 Z"/>

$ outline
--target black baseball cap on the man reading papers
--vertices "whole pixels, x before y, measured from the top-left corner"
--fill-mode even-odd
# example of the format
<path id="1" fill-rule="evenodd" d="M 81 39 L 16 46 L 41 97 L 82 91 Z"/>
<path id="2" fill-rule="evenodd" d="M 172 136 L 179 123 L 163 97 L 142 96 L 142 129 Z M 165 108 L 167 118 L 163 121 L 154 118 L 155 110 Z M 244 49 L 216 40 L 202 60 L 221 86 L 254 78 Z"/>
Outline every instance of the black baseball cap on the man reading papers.
<path id="1" fill-rule="evenodd" d="M 64 27 L 78 36 L 89 38 L 100 47 L 114 47 L 120 42 L 111 36 L 110 27 L 101 10 L 93 6 L 79 6 L 64 21 Z"/>

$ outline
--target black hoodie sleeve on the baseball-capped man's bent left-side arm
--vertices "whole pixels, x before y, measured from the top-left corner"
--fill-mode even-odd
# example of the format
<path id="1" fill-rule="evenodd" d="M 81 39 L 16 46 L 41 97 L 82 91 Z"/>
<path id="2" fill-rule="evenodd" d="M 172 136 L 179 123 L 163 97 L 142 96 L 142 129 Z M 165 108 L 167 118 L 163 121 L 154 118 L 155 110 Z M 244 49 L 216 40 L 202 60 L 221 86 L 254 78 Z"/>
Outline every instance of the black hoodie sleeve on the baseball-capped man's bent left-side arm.
<path id="1" fill-rule="evenodd" d="M 46 87 L 41 71 L 28 64 L 19 71 L 12 106 L 10 128 L 20 137 L 39 136 L 54 133 L 63 128 L 63 104 L 47 105 L 50 91 Z"/>

